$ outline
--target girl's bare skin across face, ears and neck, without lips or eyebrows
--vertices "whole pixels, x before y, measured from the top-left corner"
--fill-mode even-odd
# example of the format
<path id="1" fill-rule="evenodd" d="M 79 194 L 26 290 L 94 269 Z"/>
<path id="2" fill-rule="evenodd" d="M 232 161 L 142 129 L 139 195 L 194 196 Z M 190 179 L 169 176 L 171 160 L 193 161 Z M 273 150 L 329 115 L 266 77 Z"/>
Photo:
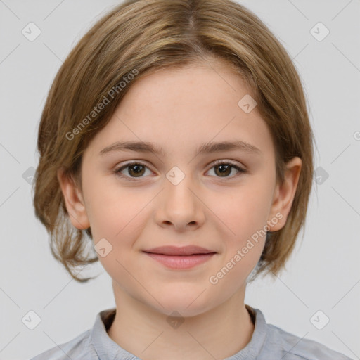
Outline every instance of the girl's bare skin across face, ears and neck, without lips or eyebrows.
<path id="1" fill-rule="evenodd" d="M 271 133 L 257 108 L 245 113 L 238 106 L 245 94 L 250 91 L 242 79 L 221 63 L 146 75 L 131 85 L 110 122 L 86 148 L 82 191 L 58 171 L 72 224 L 78 229 L 91 226 L 94 244 L 105 238 L 113 246 L 108 255 L 99 256 L 113 278 L 117 307 L 108 335 L 143 360 L 224 359 L 251 340 L 254 325 L 244 304 L 246 281 L 262 254 L 265 236 L 218 283 L 209 278 L 277 213 L 283 217 L 271 222 L 270 231 L 284 226 L 302 162 L 293 158 L 284 183 L 276 182 Z M 260 152 L 194 155 L 207 141 L 233 140 L 247 141 Z M 117 141 L 155 143 L 165 156 L 99 154 Z M 140 177 L 134 167 L 124 168 L 124 177 L 115 174 L 129 160 L 146 165 Z M 221 175 L 214 166 L 217 160 L 247 172 L 231 168 Z M 166 177 L 174 166 L 185 175 L 177 185 Z M 127 180 L 131 176 L 134 181 Z M 217 254 L 179 270 L 142 252 L 192 244 Z M 184 320 L 177 328 L 167 322 L 173 311 Z"/>

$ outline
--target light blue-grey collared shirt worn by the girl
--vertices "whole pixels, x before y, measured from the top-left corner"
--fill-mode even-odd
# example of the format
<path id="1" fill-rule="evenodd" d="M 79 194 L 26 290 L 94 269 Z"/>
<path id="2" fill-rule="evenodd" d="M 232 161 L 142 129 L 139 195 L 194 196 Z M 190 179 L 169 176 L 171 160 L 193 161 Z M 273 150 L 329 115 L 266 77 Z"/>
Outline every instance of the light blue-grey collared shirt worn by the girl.
<path id="1" fill-rule="evenodd" d="M 224 360 L 352 360 L 319 342 L 268 324 L 262 311 L 247 304 L 245 307 L 255 323 L 254 333 L 248 345 Z M 99 312 L 93 328 L 31 360 L 141 360 L 117 345 L 106 332 L 115 312 L 116 309 Z"/>

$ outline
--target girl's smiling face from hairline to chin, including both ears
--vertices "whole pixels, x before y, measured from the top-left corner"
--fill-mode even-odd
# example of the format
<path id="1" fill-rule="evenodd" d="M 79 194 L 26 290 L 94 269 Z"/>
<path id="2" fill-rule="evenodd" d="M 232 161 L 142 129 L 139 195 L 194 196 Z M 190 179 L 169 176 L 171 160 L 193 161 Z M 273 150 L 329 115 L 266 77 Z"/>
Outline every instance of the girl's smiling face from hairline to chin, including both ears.
<path id="1" fill-rule="evenodd" d="M 193 65 L 139 79 L 86 148 L 82 193 L 60 178 L 72 224 L 91 226 L 105 249 L 99 259 L 115 297 L 164 314 L 193 316 L 243 297 L 264 231 L 285 224 L 300 172 L 294 158 L 284 185 L 276 184 L 271 133 L 256 107 L 245 113 L 238 105 L 249 89 L 231 70 L 216 69 Z M 209 146 L 226 142 L 238 147 Z M 145 252 L 165 245 L 214 254 L 170 268 Z"/>

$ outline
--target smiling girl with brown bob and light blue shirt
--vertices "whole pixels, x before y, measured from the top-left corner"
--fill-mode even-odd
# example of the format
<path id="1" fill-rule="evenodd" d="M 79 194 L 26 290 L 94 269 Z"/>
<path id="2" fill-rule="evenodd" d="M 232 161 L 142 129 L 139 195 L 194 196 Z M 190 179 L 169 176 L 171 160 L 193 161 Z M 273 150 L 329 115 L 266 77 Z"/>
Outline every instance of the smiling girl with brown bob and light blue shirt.
<path id="1" fill-rule="evenodd" d="M 73 278 L 100 260 L 116 308 L 34 360 L 349 359 L 244 303 L 304 226 L 312 142 L 294 65 L 244 6 L 128 0 L 98 20 L 46 100 L 34 207 Z"/>

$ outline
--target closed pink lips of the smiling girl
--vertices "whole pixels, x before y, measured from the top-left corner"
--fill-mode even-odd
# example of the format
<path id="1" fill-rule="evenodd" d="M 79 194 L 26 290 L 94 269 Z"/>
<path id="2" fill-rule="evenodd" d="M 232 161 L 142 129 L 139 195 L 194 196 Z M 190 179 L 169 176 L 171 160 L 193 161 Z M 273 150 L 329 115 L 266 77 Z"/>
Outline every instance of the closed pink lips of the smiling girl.
<path id="1" fill-rule="evenodd" d="M 170 269 L 191 269 L 211 259 L 217 252 L 188 245 L 182 248 L 176 246 L 160 246 L 144 251 L 146 255 Z"/>

